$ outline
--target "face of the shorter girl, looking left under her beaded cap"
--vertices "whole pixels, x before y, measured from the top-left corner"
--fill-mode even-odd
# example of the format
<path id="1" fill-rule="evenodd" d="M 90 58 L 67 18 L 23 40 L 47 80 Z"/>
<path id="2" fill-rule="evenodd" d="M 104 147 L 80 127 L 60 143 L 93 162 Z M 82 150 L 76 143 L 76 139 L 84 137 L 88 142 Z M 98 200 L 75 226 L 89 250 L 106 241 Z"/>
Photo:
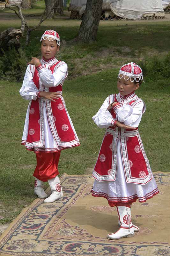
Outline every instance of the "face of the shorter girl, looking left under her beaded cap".
<path id="1" fill-rule="evenodd" d="M 128 77 L 129 76 L 125 76 L 125 79 L 128 79 Z M 130 79 L 127 81 L 125 79 L 124 77 L 117 79 L 117 89 L 122 96 L 128 95 L 139 88 L 139 83 L 135 84 L 131 82 Z"/>

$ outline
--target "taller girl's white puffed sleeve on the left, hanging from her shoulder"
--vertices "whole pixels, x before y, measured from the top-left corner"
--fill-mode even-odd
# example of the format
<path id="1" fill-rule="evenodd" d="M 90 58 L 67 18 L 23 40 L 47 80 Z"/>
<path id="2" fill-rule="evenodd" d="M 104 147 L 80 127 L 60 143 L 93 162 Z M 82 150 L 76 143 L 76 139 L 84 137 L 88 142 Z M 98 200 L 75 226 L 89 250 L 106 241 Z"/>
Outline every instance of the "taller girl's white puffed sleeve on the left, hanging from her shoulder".
<path id="1" fill-rule="evenodd" d="M 25 100 L 36 100 L 38 98 L 39 90 L 33 82 L 32 70 L 33 65 L 28 65 L 22 87 L 19 90 L 21 97 Z"/>

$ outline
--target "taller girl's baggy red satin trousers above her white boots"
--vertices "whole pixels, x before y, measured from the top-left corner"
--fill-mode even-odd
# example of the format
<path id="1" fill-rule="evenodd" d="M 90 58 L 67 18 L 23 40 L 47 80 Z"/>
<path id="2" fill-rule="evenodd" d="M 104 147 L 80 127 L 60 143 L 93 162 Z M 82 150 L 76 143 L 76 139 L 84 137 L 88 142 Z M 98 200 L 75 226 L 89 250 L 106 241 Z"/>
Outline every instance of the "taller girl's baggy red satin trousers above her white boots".
<path id="1" fill-rule="evenodd" d="M 58 162 L 61 151 L 54 153 L 39 152 L 36 153 L 37 166 L 33 176 L 38 180 L 48 181 L 55 178 L 58 172 Z"/>

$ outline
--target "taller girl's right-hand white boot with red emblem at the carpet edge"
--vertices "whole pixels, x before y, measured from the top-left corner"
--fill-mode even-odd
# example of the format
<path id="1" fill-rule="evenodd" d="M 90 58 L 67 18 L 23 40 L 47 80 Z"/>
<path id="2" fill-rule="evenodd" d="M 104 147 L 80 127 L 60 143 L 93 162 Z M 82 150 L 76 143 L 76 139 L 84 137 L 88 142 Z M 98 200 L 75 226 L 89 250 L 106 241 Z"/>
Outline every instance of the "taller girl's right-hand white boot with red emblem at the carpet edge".
<path id="1" fill-rule="evenodd" d="M 48 198 L 46 198 L 43 203 L 53 203 L 63 197 L 63 191 L 58 176 L 51 180 L 48 180 L 48 183 L 51 187 L 52 194 Z"/>

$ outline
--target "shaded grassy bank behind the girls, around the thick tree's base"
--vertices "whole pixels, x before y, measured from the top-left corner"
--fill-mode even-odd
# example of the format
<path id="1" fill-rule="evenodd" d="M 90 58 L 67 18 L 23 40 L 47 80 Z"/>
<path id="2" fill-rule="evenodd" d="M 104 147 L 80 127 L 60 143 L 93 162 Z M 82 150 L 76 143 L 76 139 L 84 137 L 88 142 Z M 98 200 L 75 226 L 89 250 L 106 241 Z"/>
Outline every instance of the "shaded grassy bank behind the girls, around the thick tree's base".
<path id="1" fill-rule="evenodd" d="M 35 20 L 29 21 L 33 24 L 37 23 Z M 166 24 L 164 21 L 145 25 L 129 23 L 128 26 L 110 26 L 110 23 L 108 25 L 106 23 L 101 22 L 97 42 L 77 44 L 71 40 L 78 35 L 79 21 L 77 24 L 74 20 L 62 22 L 48 20 L 46 25 L 45 22 L 42 23 L 42 26 L 31 33 L 31 42 L 28 46 L 25 45 L 25 37 L 21 38 L 27 61 L 32 56 L 40 58 L 40 38 L 49 28 L 57 30 L 61 40 L 66 41 L 66 45 L 61 44 L 57 58 L 67 62 L 70 77 L 95 73 L 107 68 L 118 68 L 127 61 L 133 60 L 139 63 L 146 57 L 164 56 L 170 51 L 170 22 L 168 21 Z M 7 28 L 5 26 L 7 25 L 2 23 L 0 31 Z"/>

